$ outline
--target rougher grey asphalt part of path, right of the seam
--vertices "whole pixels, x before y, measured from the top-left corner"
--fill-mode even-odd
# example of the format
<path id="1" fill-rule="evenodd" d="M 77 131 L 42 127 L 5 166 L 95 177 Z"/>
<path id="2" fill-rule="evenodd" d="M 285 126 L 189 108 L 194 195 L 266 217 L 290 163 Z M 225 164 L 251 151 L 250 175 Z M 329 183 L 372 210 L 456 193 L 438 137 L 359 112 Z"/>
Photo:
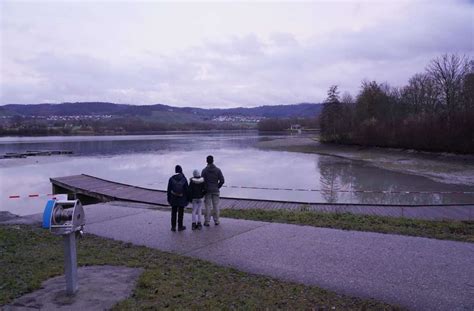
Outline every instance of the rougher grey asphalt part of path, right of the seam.
<path id="1" fill-rule="evenodd" d="M 474 308 L 474 245 L 270 224 L 187 255 L 415 310 Z"/>

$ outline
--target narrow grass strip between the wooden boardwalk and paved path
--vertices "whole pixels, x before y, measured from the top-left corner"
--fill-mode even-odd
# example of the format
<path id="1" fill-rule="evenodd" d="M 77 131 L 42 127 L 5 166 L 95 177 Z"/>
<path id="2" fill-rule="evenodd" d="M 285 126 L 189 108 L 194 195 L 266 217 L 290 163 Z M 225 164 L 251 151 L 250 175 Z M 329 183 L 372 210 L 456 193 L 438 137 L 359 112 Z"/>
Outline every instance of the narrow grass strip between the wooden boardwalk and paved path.
<path id="1" fill-rule="evenodd" d="M 225 209 L 222 217 L 474 242 L 474 221 L 428 221 L 312 211 Z"/>

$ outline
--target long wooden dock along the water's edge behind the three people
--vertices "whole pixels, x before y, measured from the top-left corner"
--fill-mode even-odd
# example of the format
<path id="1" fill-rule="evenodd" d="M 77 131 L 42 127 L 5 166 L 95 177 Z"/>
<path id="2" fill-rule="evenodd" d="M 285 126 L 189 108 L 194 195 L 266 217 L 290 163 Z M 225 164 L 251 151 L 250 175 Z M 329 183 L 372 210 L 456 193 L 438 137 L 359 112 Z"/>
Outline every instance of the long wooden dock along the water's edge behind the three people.
<path id="1" fill-rule="evenodd" d="M 125 201 L 157 206 L 169 206 L 166 191 L 132 186 L 101 179 L 90 175 L 73 175 L 50 178 L 53 193 L 68 193 L 83 204 Z M 473 220 L 473 205 L 374 205 L 374 204 L 328 204 L 287 202 L 221 197 L 220 207 L 224 209 L 287 209 L 320 211 L 329 213 L 354 213 L 390 217 L 406 217 L 429 220 Z"/>

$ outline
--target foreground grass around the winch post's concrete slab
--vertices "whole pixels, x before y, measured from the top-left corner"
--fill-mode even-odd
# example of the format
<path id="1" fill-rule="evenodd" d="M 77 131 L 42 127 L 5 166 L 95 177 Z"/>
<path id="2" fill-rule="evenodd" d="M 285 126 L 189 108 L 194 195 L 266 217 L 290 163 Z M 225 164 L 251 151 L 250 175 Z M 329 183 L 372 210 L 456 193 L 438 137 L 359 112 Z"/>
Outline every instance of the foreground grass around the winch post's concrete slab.
<path id="1" fill-rule="evenodd" d="M 144 268 L 132 297 L 114 309 L 397 310 L 374 300 L 252 275 L 206 261 L 86 235 L 78 264 Z M 30 226 L 0 226 L 0 305 L 63 274 L 62 238 Z"/>

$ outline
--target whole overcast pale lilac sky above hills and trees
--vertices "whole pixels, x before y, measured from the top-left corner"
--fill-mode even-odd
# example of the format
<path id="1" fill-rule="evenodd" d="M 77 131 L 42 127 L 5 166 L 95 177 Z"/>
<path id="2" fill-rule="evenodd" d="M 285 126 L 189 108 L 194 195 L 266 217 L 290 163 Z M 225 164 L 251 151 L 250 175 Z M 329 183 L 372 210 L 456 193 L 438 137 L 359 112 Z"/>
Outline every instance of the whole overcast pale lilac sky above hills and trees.
<path id="1" fill-rule="evenodd" d="M 3 0 L 0 19 L 0 104 L 321 102 L 474 53 L 467 0 Z"/>

